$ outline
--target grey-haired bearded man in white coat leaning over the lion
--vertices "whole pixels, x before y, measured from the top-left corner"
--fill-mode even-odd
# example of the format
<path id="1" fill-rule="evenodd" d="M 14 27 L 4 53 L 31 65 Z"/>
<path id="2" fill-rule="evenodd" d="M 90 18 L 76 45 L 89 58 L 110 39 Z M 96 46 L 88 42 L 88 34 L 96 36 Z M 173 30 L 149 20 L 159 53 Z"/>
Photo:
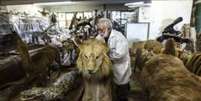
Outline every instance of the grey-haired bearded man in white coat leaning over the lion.
<path id="1" fill-rule="evenodd" d="M 107 18 L 101 18 L 98 21 L 97 30 L 99 37 L 104 38 L 110 48 L 109 57 L 113 63 L 117 101 L 128 101 L 131 76 L 128 41 L 122 33 L 112 29 L 112 22 Z"/>

